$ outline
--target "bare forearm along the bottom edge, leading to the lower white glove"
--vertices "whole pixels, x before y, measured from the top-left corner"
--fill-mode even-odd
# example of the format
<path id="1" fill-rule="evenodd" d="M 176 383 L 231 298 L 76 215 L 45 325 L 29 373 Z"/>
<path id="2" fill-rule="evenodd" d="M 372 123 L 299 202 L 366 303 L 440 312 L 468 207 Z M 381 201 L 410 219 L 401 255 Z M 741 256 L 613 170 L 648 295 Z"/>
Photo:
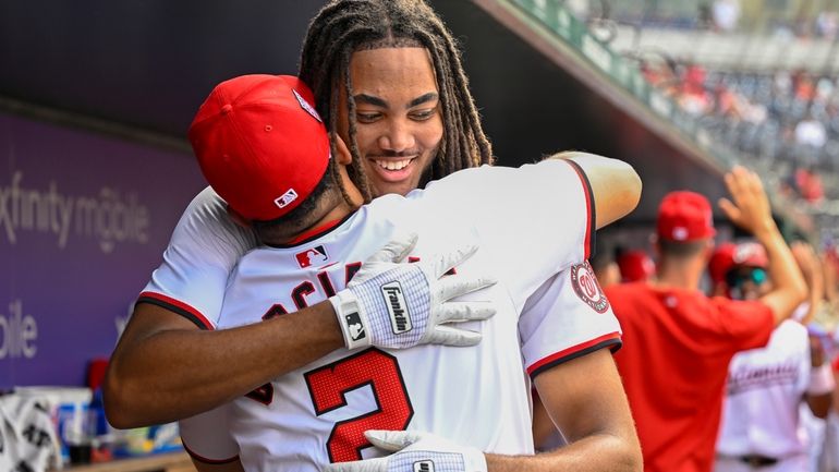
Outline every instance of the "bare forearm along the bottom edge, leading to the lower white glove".
<path id="1" fill-rule="evenodd" d="M 488 472 L 640 472 L 643 459 L 637 444 L 621 436 L 600 434 L 536 456 L 487 455 Z"/>

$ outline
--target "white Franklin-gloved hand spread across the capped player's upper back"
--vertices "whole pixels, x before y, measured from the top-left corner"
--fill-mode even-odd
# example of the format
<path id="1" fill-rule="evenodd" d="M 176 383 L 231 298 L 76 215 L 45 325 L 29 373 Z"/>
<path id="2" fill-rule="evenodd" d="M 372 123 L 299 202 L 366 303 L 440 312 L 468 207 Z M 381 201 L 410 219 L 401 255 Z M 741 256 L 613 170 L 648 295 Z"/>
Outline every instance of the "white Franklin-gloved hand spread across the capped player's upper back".
<path id="1" fill-rule="evenodd" d="M 481 341 L 479 332 L 447 324 L 487 319 L 495 315 L 495 307 L 486 301 L 449 300 L 489 287 L 495 280 L 443 276 L 472 256 L 477 246 L 404 263 L 416 239 L 416 234 L 396 237 L 364 263 L 346 289 L 329 299 L 348 349 L 474 346 Z"/>

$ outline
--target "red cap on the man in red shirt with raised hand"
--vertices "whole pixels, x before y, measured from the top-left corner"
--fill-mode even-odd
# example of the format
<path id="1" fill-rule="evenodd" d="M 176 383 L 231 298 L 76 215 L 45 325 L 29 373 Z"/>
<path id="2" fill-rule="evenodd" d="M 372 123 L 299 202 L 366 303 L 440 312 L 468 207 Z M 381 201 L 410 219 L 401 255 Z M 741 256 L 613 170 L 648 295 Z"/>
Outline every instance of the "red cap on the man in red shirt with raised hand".
<path id="1" fill-rule="evenodd" d="M 708 199 L 695 192 L 670 192 L 658 206 L 658 238 L 666 241 L 696 241 L 713 238 L 714 216 Z"/>

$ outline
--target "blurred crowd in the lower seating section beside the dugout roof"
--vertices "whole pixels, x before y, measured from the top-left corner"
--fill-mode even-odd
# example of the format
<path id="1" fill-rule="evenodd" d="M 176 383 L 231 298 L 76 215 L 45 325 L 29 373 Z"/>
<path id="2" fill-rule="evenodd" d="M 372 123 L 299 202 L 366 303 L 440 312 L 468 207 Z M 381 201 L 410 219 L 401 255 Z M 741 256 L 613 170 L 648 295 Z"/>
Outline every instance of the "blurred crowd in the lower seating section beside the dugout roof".
<path id="1" fill-rule="evenodd" d="M 678 62 L 644 63 L 642 72 L 715 142 L 782 174 L 783 189 L 806 202 L 825 198 L 820 171 L 839 170 L 839 77 Z"/>

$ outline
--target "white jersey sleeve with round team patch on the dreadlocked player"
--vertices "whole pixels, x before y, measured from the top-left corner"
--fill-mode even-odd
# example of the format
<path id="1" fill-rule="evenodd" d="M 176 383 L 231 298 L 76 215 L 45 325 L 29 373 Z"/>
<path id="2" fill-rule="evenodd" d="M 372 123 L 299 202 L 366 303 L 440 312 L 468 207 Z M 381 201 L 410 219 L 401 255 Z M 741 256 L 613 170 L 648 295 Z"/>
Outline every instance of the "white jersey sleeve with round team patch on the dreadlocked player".
<path id="1" fill-rule="evenodd" d="M 587 262 L 543 283 L 519 319 L 527 374 L 535 377 L 563 362 L 621 346 L 621 329 Z"/>

